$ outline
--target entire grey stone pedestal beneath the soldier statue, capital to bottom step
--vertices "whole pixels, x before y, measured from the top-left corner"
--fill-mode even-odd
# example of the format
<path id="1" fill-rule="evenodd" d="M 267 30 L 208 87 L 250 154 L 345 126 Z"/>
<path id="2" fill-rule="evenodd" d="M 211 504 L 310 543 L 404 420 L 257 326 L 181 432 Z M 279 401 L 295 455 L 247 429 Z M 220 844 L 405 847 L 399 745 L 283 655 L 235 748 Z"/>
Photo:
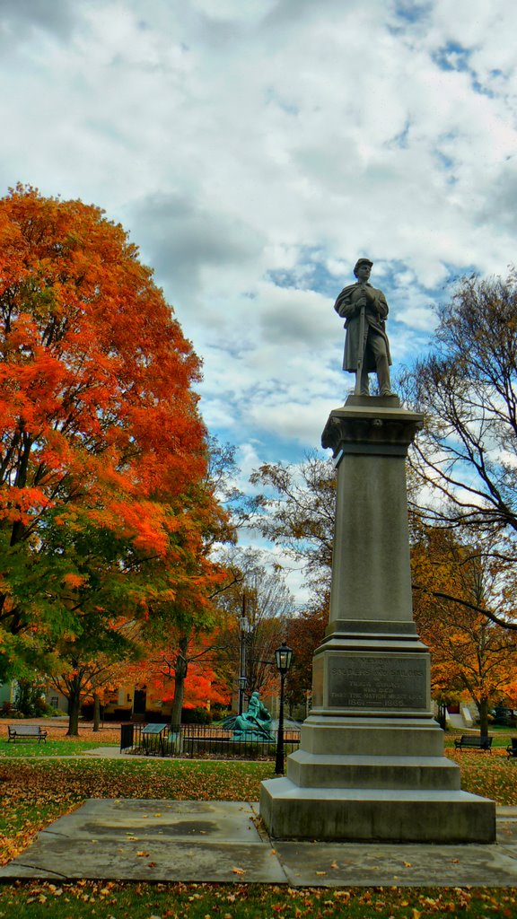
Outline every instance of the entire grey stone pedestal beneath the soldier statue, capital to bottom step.
<path id="1" fill-rule="evenodd" d="M 273 837 L 495 839 L 493 801 L 462 791 L 443 755 L 412 617 L 405 459 L 420 424 L 396 396 L 350 396 L 323 433 L 338 466 L 330 619 L 300 749 L 262 783 Z"/>

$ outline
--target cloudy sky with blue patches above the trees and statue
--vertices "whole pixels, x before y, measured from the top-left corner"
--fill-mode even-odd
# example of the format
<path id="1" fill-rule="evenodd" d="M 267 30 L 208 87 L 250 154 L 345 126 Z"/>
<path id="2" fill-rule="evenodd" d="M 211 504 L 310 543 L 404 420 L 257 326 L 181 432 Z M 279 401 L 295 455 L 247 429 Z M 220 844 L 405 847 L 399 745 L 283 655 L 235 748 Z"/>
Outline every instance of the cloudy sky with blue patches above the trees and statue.
<path id="1" fill-rule="evenodd" d="M 0 193 L 123 223 L 244 480 L 350 391 L 358 255 L 396 366 L 455 277 L 516 260 L 516 34 L 508 0 L 0 0 Z"/>

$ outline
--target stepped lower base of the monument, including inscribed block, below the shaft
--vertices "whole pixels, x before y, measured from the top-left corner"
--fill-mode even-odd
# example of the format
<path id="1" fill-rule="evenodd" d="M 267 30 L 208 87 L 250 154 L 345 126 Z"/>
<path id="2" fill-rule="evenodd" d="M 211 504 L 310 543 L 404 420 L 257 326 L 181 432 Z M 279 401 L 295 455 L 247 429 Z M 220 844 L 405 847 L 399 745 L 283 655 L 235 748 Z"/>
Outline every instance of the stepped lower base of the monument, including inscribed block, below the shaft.
<path id="1" fill-rule="evenodd" d="M 493 801 L 461 790 L 431 713 L 430 655 L 410 625 L 332 634 L 314 663 L 315 707 L 287 776 L 262 783 L 279 839 L 491 843 Z"/>

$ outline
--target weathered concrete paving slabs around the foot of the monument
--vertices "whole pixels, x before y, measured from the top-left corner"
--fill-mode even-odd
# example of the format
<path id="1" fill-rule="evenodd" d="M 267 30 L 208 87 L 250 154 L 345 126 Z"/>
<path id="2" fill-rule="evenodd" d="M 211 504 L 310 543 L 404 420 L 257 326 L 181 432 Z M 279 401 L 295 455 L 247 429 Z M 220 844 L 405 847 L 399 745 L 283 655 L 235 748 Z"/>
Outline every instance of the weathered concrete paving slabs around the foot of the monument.
<path id="1" fill-rule="evenodd" d="M 17 878 L 517 887 L 517 808 L 498 808 L 495 845 L 356 845 L 271 842 L 246 801 L 94 799 L 0 868 Z"/>

